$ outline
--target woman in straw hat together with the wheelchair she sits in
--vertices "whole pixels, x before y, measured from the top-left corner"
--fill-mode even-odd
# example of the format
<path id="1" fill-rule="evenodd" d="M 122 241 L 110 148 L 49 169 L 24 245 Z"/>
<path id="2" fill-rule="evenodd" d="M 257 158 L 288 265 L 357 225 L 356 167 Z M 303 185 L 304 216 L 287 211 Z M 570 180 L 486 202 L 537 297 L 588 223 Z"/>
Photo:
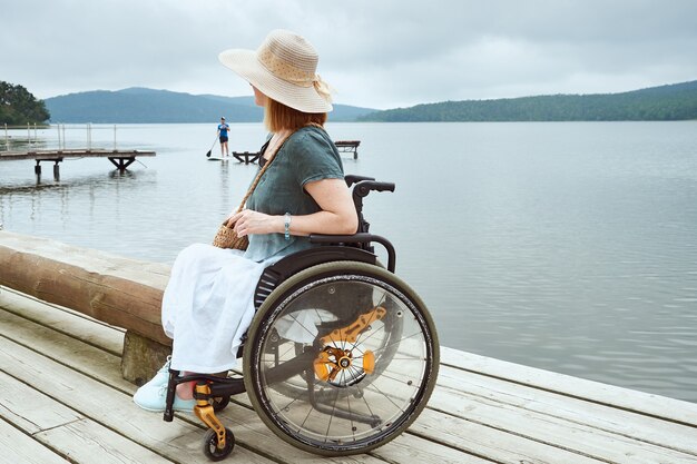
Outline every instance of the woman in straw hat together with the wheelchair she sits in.
<path id="1" fill-rule="evenodd" d="M 369 451 L 415 419 L 438 373 L 433 322 L 394 276 L 392 245 L 369 234 L 362 215 L 363 197 L 394 186 L 344 176 L 323 128 L 328 87 L 305 39 L 276 30 L 256 51 L 219 59 L 265 108 L 272 137 L 259 168 L 271 165 L 246 209 L 228 219 L 248 237 L 245 251 L 193 245 L 177 256 L 161 315 L 173 353 L 134 401 L 166 421 L 195 412 L 209 427 L 204 452 L 214 461 L 234 445 L 215 412 L 245 391 L 295 446 Z M 372 243 L 387 249 L 387 269 Z M 239 353 L 244 378 L 226 377 Z"/>

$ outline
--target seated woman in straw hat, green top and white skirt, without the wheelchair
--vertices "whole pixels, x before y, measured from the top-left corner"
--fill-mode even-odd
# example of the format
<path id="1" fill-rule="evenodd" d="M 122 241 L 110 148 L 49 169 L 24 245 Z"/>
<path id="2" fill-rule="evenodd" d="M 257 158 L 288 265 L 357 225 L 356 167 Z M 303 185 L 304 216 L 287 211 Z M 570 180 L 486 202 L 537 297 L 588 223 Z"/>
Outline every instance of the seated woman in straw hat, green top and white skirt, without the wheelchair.
<path id="1" fill-rule="evenodd" d="M 218 373 L 236 367 L 239 338 L 254 314 L 252 296 L 264 268 L 310 247 L 312 233 L 353 234 L 357 228 L 340 155 L 322 128 L 332 110 L 330 96 L 285 80 L 282 57 L 273 55 L 276 48 L 289 49 L 297 59 L 288 66 L 314 78 L 314 50 L 284 31 L 272 33 L 265 46 L 272 70 L 256 58 L 251 62 L 245 50 L 220 55 L 224 65 L 248 79 L 256 103 L 265 108 L 265 125 L 273 137 L 264 147 L 262 164 L 275 159 L 247 200 L 247 209 L 229 218 L 238 236 L 248 236 L 247 250 L 194 245 L 174 264 L 163 298 L 163 326 L 174 339 L 171 367 L 178 371 Z M 136 394 L 139 406 L 165 409 L 165 396 L 156 388 L 160 377 Z M 193 385 L 180 384 L 175 409 L 192 411 L 194 404 Z"/>

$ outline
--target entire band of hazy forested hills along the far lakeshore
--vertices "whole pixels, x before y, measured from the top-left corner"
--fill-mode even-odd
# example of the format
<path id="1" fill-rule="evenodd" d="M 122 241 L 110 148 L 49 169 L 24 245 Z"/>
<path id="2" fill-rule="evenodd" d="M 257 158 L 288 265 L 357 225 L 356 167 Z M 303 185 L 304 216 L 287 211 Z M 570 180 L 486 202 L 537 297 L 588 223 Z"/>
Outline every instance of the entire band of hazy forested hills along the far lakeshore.
<path id="1" fill-rule="evenodd" d="M 91 90 L 43 100 L 53 122 L 258 122 L 254 97 L 192 95 L 130 87 Z M 617 93 L 557 93 L 441 101 L 375 110 L 334 105 L 330 121 L 616 121 L 697 119 L 697 80 Z"/>

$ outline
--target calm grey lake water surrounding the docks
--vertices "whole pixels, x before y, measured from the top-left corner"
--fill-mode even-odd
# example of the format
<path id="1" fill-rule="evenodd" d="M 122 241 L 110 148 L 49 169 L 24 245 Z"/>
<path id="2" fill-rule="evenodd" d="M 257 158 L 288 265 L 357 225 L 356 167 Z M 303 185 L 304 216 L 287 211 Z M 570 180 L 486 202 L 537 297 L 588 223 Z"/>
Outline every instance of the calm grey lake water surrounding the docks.
<path id="1" fill-rule="evenodd" d="M 38 182 L 32 161 L 0 162 L 0 223 L 171 263 L 212 239 L 255 171 L 206 160 L 215 127 L 118 126 L 119 148 L 157 151 L 124 175 L 106 159 L 66 160 L 59 181 L 45 164 Z M 328 130 L 361 140 L 346 172 L 396 182 L 365 214 L 443 345 L 697 402 L 697 121 Z M 233 125 L 230 145 L 256 151 L 264 136 Z M 58 130 L 37 138 L 55 146 Z M 112 126 L 91 138 L 112 148 Z M 85 127 L 65 139 L 85 146 Z"/>

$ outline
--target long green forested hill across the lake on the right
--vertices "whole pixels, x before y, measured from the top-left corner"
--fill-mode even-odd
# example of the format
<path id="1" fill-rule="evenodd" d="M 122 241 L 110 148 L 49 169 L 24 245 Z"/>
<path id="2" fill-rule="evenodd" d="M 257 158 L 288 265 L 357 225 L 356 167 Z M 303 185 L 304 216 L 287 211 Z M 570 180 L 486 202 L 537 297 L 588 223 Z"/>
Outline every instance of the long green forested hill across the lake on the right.
<path id="1" fill-rule="evenodd" d="M 363 121 L 619 121 L 697 119 L 697 81 L 622 93 L 444 101 L 366 115 Z"/>

